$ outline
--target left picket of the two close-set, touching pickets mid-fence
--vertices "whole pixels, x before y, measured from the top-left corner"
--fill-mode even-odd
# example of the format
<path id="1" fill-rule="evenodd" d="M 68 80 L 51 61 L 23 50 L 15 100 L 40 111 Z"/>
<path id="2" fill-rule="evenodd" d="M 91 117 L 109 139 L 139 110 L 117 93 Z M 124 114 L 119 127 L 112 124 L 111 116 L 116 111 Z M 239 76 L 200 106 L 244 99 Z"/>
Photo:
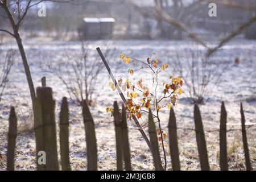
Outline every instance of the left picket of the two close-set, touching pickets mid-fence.
<path id="1" fill-rule="evenodd" d="M 122 127 L 121 117 L 117 101 L 114 102 L 114 125 L 115 125 L 115 140 L 117 146 L 117 171 L 123 170 L 123 144 L 122 144 Z"/>

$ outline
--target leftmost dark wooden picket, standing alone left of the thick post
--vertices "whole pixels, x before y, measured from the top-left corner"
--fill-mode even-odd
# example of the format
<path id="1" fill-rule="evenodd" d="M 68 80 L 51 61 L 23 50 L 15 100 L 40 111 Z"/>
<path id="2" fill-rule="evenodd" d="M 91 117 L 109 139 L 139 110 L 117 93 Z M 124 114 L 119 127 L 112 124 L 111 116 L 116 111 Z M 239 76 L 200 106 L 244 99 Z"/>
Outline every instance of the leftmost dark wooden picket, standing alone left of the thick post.
<path id="1" fill-rule="evenodd" d="M 14 171 L 14 152 L 17 137 L 17 118 L 14 107 L 11 107 L 9 116 L 9 133 L 7 147 L 7 171 Z"/>

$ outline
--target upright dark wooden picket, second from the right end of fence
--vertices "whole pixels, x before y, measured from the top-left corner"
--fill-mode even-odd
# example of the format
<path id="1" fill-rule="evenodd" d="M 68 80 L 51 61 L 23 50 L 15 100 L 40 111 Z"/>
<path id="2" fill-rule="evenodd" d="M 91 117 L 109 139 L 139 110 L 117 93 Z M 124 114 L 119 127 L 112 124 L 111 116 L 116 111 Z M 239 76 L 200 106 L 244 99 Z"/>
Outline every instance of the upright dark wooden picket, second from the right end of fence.
<path id="1" fill-rule="evenodd" d="M 221 105 L 220 118 L 220 168 L 221 171 L 228 171 L 228 155 L 226 152 L 226 109 L 224 102 Z"/>

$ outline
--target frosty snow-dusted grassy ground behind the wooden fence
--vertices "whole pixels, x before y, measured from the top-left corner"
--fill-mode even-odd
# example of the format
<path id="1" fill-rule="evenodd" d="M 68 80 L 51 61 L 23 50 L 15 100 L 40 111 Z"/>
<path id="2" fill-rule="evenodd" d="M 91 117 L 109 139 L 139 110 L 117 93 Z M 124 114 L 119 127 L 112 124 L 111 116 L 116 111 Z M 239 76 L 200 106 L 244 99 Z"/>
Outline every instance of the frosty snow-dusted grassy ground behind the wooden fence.
<path id="1" fill-rule="evenodd" d="M 89 48 L 95 50 L 106 43 L 115 48 L 112 60 L 108 60 L 110 67 L 113 68 L 115 77 L 127 77 L 127 65 L 119 60 L 120 52 L 132 57 L 146 59 L 150 55 L 158 57 L 164 63 L 169 64 L 168 72 L 163 73 L 160 81 L 166 78 L 167 74 L 176 72 L 172 57 L 175 52 L 183 53 L 184 48 L 193 45 L 188 40 L 183 41 L 163 41 L 163 40 L 114 40 L 114 41 L 93 41 L 89 43 Z M 213 43 L 214 44 L 214 43 Z M 67 90 L 62 82 L 49 73 L 42 71 L 39 67 L 42 56 L 47 55 L 48 61 L 57 61 L 62 59 L 63 52 L 72 53 L 80 50 L 80 42 L 61 42 L 50 39 L 26 39 L 24 40 L 28 61 L 35 86 L 40 86 L 40 79 L 47 77 L 47 86 L 51 86 L 56 99 L 56 118 L 60 109 L 61 98 L 68 97 Z M 7 41 L 5 47 L 15 47 L 13 40 Z M 213 55 L 220 64 L 229 62 L 220 79 L 210 85 L 210 92 L 205 97 L 205 104 L 200 105 L 207 139 L 207 148 L 209 163 L 211 169 L 220 169 L 219 159 L 219 134 L 220 108 L 221 101 L 225 101 L 228 112 L 228 157 L 229 169 L 245 169 L 245 159 L 243 155 L 242 137 L 241 137 L 241 115 L 240 102 L 243 103 L 245 118 L 247 124 L 255 124 L 256 121 L 256 42 L 251 40 L 236 39 L 224 46 L 220 51 Z M 92 55 L 93 56 L 93 55 Z M 235 64 L 236 57 L 240 58 L 240 63 Z M 64 58 L 63 58 L 64 59 Z M 45 59 L 44 59 L 45 60 Z M 220 66 L 221 69 L 222 65 Z M 224 64 L 223 64 L 224 67 Z M 118 68 L 118 69 L 115 69 Z M 136 73 L 135 75 L 136 76 Z M 106 113 L 106 107 L 112 106 L 115 100 L 121 98 L 117 92 L 109 88 L 110 78 L 106 69 L 102 69 L 100 78 L 95 83 L 97 99 L 96 105 L 90 107 L 94 122 L 96 123 L 96 136 L 98 145 L 98 168 L 106 170 L 115 170 L 115 133 L 113 118 Z M 183 88 L 183 94 L 177 100 L 175 113 L 177 118 L 179 150 L 181 169 L 199 170 L 199 156 L 196 147 L 195 131 L 193 129 L 193 105 L 188 99 L 187 86 Z M 23 71 L 22 61 L 17 60 L 11 71 L 10 82 L 7 85 L 0 104 L 0 169 L 6 169 L 6 147 L 7 147 L 7 129 L 10 106 L 15 106 L 18 114 L 18 138 L 16 140 L 15 168 L 18 170 L 35 169 L 35 137 L 32 130 L 31 101 L 28 92 L 26 77 Z M 70 158 L 72 169 L 86 169 L 86 144 L 84 124 L 81 118 L 81 108 L 75 104 L 70 104 Z M 161 110 L 160 118 L 164 131 L 167 132 L 168 125 L 167 109 Z M 147 117 L 139 119 L 143 124 Z M 58 122 L 58 119 L 56 119 Z M 141 134 L 136 130 L 133 121 L 129 121 L 129 138 L 131 146 L 131 163 L 133 169 L 147 170 L 154 169 L 152 156 L 144 142 Z M 145 130 L 147 133 L 147 129 Z M 248 125 L 247 138 L 250 150 L 251 164 L 256 169 L 256 127 Z M 167 169 L 171 170 L 170 152 L 167 148 Z"/>

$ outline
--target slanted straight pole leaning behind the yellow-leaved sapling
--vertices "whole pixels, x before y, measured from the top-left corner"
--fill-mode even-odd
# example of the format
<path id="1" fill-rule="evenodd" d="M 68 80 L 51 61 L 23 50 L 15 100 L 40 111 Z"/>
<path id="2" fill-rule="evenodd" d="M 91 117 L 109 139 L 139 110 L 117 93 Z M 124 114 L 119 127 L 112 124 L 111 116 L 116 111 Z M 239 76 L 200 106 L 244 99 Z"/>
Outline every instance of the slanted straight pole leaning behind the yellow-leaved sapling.
<path id="1" fill-rule="evenodd" d="M 123 96 L 123 93 L 122 93 L 121 89 L 119 88 L 119 85 L 117 84 L 117 81 L 115 80 L 115 78 L 113 76 L 113 73 L 112 73 L 112 71 L 109 67 L 109 64 L 107 63 L 104 55 L 102 54 L 100 47 L 97 47 L 96 49 L 97 49 L 99 55 L 101 56 L 101 59 L 102 59 L 104 65 L 105 65 L 106 69 L 108 70 L 110 77 L 112 78 L 112 80 L 114 82 L 115 88 L 117 88 L 117 92 L 119 93 L 119 96 L 122 98 L 122 101 L 125 104 L 126 103 L 126 98 L 125 98 L 125 96 Z M 134 115 L 132 117 L 133 117 L 133 120 L 134 120 L 135 124 L 138 127 L 138 130 L 141 132 L 142 137 L 146 141 L 146 143 L 147 143 L 147 145 L 150 148 L 150 151 L 152 153 L 152 147 L 151 147 L 150 140 L 148 140 L 147 135 L 144 133 L 144 130 L 142 129 L 141 125 L 138 122 L 138 119 Z"/>

